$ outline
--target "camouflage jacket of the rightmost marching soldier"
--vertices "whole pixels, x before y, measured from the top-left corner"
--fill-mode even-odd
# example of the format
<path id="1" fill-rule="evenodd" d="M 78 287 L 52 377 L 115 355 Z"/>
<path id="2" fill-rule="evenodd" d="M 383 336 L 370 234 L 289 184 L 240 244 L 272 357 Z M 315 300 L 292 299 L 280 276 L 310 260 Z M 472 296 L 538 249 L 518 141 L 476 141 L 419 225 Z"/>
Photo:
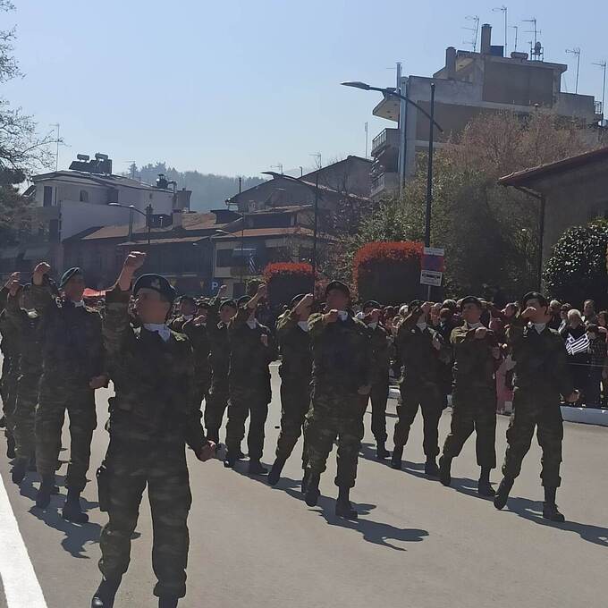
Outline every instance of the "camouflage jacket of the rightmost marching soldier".
<path id="1" fill-rule="evenodd" d="M 534 325 L 517 317 L 507 327 L 515 361 L 515 388 L 559 400 L 574 391 L 562 336 L 548 326 L 538 334 Z"/>

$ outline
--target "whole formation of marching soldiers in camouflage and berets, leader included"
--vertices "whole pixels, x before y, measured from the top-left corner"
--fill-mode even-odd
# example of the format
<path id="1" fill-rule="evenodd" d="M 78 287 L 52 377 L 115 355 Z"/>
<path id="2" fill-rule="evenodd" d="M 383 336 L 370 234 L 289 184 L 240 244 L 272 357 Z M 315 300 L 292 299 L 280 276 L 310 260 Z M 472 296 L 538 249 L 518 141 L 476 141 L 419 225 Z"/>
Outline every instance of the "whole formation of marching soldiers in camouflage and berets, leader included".
<path id="1" fill-rule="evenodd" d="M 313 311 L 316 305 L 310 294 L 294 298 L 278 319 L 274 337 L 256 319 L 258 304 L 266 297 L 261 285 L 253 297 L 237 301 L 224 300 L 221 290 L 198 310 L 194 302 L 183 300 L 180 316 L 169 320 L 176 294 L 165 278 L 144 274 L 134 281 L 144 260 L 145 254 L 139 252 L 131 252 L 125 260 L 114 288 L 106 294 L 103 323 L 81 304 L 84 280 L 77 268 L 63 274 L 61 298 L 55 297 L 45 263 L 36 267 L 29 285 L 21 286 L 19 276 L 13 275 L 4 289 L 4 341 L 9 335 L 4 333 L 4 322 L 22 320 L 14 334 L 21 337 L 8 341 L 21 348 L 21 356 L 9 357 L 4 376 L 14 378 L 13 360 L 19 361 L 17 388 L 9 386 L 8 401 L 4 401 L 3 382 L 7 430 L 16 440 L 13 479 L 21 481 L 35 452 L 41 478 L 39 507 L 48 505 L 56 489 L 54 473 L 67 410 L 72 444 L 63 517 L 86 521 L 80 492 L 96 426 L 94 391 L 109 380 L 114 383 L 106 424 L 110 443 L 99 471 L 100 506 L 108 511 L 108 523 L 100 540 L 103 579 L 92 600 L 94 608 L 114 604 L 129 565 L 131 535 L 146 486 L 154 525 L 155 595 L 165 608 L 185 595 L 191 502 L 185 446 L 201 461 L 213 457 L 227 409 L 224 465 L 232 468 L 243 457 L 241 442 L 249 418 L 249 473 L 267 473 L 261 459 L 271 401 L 269 365 L 276 359 L 277 346 L 282 354 L 282 418 L 268 474 L 271 485 L 278 483 L 303 432 L 302 492 L 308 505 L 316 505 L 320 477 L 337 443 L 335 511 L 339 517 L 355 519 L 350 489 L 355 485 L 364 413 L 371 399 L 372 432 L 380 459 L 392 456 L 393 468 L 401 469 L 410 426 L 422 410 L 426 474 L 449 486 L 452 460 L 475 430 L 479 494 L 494 495 L 490 484 L 496 464 L 494 371 L 502 350 L 493 332 L 480 323 L 482 306 L 477 298 L 462 300 L 464 323 L 453 329 L 449 340 L 427 325 L 428 305 L 410 303 L 409 314 L 396 332 L 403 375 L 391 455 L 385 446 L 391 340 L 379 323 L 376 302 L 367 302 L 363 317 L 356 318 L 348 287 L 334 281 L 325 289 L 322 311 Z M 544 297 L 528 293 L 521 310 L 507 330 L 516 362 L 516 388 L 503 479 L 494 505 L 500 509 L 506 504 L 537 426 L 543 449 L 543 514 L 559 521 L 563 516 L 555 505 L 555 491 L 562 460 L 560 394 L 567 401 L 576 401 L 578 395 L 569 379 L 562 340 L 546 326 Z M 30 369 L 29 357 L 23 357 L 24 348 L 32 355 L 38 353 L 37 372 Z M 452 362 L 452 428 L 437 464 L 444 367 Z M 29 380 L 21 382 L 28 375 Z M 27 394 L 26 386 L 31 388 L 30 401 L 21 396 Z M 13 393 L 15 405 L 7 407 Z M 207 432 L 201 424 L 203 400 Z M 21 424 L 23 419 L 28 422 Z M 26 439 L 21 438 L 23 429 Z"/>

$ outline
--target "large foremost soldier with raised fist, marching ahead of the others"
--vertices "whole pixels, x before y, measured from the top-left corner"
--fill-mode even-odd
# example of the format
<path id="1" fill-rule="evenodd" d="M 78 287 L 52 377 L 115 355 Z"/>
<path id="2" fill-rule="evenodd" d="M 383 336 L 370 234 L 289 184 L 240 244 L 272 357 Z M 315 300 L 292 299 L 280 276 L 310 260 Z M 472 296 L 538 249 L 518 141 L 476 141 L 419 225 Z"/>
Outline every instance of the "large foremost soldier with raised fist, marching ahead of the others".
<path id="1" fill-rule="evenodd" d="M 93 608 L 114 604 L 129 566 L 131 536 L 146 486 L 154 528 L 152 565 L 158 579 L 154 594 L 162 608 L 173 608 L 185 595 L 191 502 L 185 445 L 199 460 L 215 452 L 200 424 L 190 341 L 165 325 L 175 291 L 164 277 L 139 277 L 133 296 L 143 326 L 133 329 L 129 323 L 131 281 L 145 257 L 131 252 L 106 294 L 104 339 L 115 396 L 107 424 L 109 520 L 100 539 L 104 578 Z"/>

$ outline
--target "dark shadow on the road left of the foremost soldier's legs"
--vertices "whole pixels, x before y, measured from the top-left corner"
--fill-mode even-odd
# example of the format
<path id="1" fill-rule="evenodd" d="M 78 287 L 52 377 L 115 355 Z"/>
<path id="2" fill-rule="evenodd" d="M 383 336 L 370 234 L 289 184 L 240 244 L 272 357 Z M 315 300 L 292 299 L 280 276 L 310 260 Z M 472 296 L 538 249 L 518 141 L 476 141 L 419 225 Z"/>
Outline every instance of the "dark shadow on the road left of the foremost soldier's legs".
<path id="1" fill-rule="evenodd" d="M 55 478 L 61 486 L 63 483 L 63 476 L 57 475 Z M 34 478 L 32 477 L 27 477 L 26 480 L 24 480 L 21 484 L 21 495 L 35 501 L 37 488 L 33 485 L 33 481 Z M 46 509 L 38 509 L 34 504 L 29 512 L 37 519 L 40 519 L 40 521 L 43 521 L 46 526 L 63 532 L 65 536 L 61 541 L 61 545 L 64 551 L 70 553 L 72 557 L 89 560 L 89 556 L 84 553 L 85 545 L 99 542 L 101 526 L 94 522 L 80 525 L 65 521 L 61 515 L 64 500 L 65 496 L 63 494 L 55 494 L 51 498 L 51 503 Z M 80 503 L 85 511 L 91 511 L 98 506 L 97 502 L 89 502 L 85 498 L 81 498 Z"/>

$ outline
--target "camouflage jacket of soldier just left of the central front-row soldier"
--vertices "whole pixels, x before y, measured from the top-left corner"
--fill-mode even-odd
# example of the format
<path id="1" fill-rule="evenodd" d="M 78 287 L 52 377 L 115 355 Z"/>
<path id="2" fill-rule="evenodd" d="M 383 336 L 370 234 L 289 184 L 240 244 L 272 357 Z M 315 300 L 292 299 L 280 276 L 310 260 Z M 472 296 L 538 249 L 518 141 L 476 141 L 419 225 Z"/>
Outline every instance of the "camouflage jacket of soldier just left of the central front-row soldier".
<path id="1" fill-rule="evenodd" d="M 283 382 L 308 386 L 312 373 L 310 336 L 298 325 L 295 308 L 278 318 L 276 337 L 283 356 L 279 369 L 281 379 Z"/>

